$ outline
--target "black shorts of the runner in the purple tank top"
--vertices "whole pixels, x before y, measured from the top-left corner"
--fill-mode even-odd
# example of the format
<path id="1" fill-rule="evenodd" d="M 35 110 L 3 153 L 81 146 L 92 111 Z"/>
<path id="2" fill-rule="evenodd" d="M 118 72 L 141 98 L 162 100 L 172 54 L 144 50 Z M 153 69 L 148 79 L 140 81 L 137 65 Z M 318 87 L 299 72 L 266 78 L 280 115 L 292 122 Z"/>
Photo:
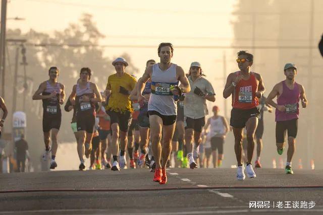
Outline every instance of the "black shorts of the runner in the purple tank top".
<path id="1" fill-rule="evenodd" d="M 283 144 L 285 142 L 286 131 L 288 136 L 296 138 L 298 129 L 298 119 L 276 122 L 276 142 Z"/>

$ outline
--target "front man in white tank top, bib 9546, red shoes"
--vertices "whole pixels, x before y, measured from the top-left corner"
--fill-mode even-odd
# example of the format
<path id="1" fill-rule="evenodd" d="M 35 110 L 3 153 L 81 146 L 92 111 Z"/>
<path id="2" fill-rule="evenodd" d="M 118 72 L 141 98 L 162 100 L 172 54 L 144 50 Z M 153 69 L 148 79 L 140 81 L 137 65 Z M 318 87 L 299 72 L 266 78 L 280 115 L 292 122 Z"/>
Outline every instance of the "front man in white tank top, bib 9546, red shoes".
<path id="1" fill-rule="evenodd" d="M 166 164 L 172 151 L 171 141 L 177 115 L 175 99 L 178 99 L 182 92 L 190 91 L 190 85 L 182 67 L 171 63 L 173 50 L 171 43 L 160 43 L 158 46 L 160 63 L 147 67 L 138 83 L 137 95 L 138 101 L 141 102 L 144 100 L 144 96 L 142 96 L 144 84 L 149 78 L 151 79 L 148 114 L 152 152 L 156 162 L 153 181 L 159 182 L 159 184 L 167 183 Z M 182 89 L 178 87 L 178 81 L 181 82 Z M 163 144 L 161 145 L 162 131 Z M 161 164 L 160 159 L 162 160 Z"/>

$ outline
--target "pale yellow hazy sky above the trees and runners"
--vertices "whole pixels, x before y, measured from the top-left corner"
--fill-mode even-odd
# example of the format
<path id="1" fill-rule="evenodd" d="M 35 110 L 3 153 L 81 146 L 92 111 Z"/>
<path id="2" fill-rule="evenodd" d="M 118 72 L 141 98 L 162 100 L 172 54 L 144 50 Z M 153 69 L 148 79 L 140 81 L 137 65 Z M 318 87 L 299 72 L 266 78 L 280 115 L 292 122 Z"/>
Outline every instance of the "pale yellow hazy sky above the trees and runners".
<path id="1" fill-rule="evenodd" d="M 106 56 L 124 52 L 144 71 L 147 59 L 158 60 L 156 48 L 160 42 L 175 46 L 173 62 L 188 71 L 192 61 L 199 61 L 216 92 L 223 90 L 223 49 L 176 49 L 176 46 L 230 45 L 233 38 L 232 11 L 236 1 L 107 1 L 107 0 L 11 0 L 7 28 L 27 32 L 63 30 L 78 22 L 82 13 L 93 19 L 106 38 L 101 44 L 153 45 L 154 48 L 107 48 Z M 232 49 L 226 50 L 228 55 Z M 235 59 L 233 59 L 234 61 Z M 89 65 L 90 66 L 90 65 Z M 229 71 L 228 71 L 229 73 Z"/>

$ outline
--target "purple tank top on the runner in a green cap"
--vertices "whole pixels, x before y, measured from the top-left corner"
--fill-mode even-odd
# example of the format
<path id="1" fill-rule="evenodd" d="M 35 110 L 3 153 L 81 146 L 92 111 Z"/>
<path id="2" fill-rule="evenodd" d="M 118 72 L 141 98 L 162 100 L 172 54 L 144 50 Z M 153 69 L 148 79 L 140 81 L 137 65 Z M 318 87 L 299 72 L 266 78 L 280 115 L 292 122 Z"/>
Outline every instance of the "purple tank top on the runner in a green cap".
<path id="1" fill-rule="evenodd" d="M 298 119 L 299 114 L 299 87 L 298 84 L 294 83 L 294 89 L 291 90 L 287 87 L 285 81 L 283 84 L 283 93 L 277 99 L 278 105 L 284 105 L 286 107 L 285 112 L 281 112 L 276 108 L 276 119 L 275 121 L 287 121 L 291 119 Z"/>

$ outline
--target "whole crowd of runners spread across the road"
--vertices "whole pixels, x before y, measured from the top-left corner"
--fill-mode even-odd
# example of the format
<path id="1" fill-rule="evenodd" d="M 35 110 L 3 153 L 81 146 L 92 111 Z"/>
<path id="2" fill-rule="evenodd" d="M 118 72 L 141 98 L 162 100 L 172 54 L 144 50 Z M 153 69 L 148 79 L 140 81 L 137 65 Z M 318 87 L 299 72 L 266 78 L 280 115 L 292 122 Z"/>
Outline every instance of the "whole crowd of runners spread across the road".
<path id="1" fill-rule="evenodd" d="M 232 97 L 228 123 L 219 115 L 216 105 L 212 107 L 212 116 L 205 119 L 206 100 L 216 101 L 216 91 L 204 78 L 199 62 L 192 62 L 186 74 L 181 66 L 171 62 L 173 52 L 171 43 L 159 44 L 160 61 L 147 60 L 144 74 L 138 80 L 127 73 L 128 62 L 118 57 L 112 63 L 116 73 L 109 76 L 101 92 L 90 82 L 91 69 L 83 67 L 68 97 L 65 86 L 58 82 L 59 68 L 50 67 L 49 79 L 39 85 L 32 97 L 42 100 L 43 159 L 50 159 L 50 169 L 58 165 L 57 137 L 62 120 L 61 105 L 65 104 L 65 111 L 73 111 L 71 128 L 77 141 L 79 170 L 119 171 L 146 166 L 154 173 L 153 181 L 165 184 L 170 160 L 174 161 L 173 167 L 208 168 L 212 156 L 212 166 L 221 167 L 225 138 L 231 130 L 235 137 L 237 179 L 244 180 L 245 172 L 253 178 L 256 177 L 251 164 L 255 142 L 255 167 L 261 168 L 263 112 L 276 108 L 277 152 L 279 155 L 284 152 L 287 131 L 285 171 L 293 174 L 299 101 L 303 108 L 307 106 L 304 87 L 295 82 L 296 65 L 285 65 L 286 79 L 276 84 L 265 98 L 261 75 L 251 71 L 253 55 L 239 51 L 236 60 L 239 70 L 228 76 L 223 90 L 224 98 Z M 273 101 L 275 97 L 277 102 Z M 3 126 L 8 111 L 2 98 L 0 107 L 4 110 L 0 121 Z M 85 158 L 90 158 L 89 167 L 85 165 Z"/>

